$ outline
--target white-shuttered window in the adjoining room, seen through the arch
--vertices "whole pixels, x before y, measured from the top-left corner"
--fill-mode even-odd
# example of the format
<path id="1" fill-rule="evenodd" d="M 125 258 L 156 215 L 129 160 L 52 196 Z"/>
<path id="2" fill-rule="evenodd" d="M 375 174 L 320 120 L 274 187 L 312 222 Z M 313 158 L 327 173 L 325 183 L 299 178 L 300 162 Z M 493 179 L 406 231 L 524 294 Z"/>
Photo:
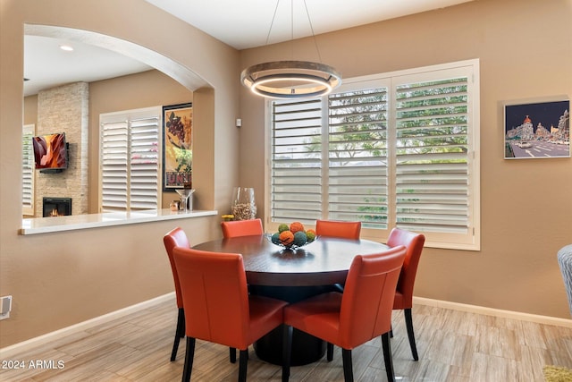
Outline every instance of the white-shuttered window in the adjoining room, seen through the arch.
<path id="1" fill-rule="evenodd" d="M 158 209 L 161 107 L 99 116 L 99 210 Z"/>

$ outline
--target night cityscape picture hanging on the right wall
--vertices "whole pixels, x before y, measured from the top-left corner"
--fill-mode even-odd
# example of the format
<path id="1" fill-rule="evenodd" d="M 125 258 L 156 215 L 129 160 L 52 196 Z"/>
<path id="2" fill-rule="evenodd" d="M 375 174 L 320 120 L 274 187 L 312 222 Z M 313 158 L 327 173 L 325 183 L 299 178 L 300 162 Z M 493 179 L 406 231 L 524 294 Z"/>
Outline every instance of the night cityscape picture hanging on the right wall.
<path id="1" fill-rule="evenodd" d="M 551 157 L 570 157 L 570 100 L 505 103 L 504 158 Z"/>

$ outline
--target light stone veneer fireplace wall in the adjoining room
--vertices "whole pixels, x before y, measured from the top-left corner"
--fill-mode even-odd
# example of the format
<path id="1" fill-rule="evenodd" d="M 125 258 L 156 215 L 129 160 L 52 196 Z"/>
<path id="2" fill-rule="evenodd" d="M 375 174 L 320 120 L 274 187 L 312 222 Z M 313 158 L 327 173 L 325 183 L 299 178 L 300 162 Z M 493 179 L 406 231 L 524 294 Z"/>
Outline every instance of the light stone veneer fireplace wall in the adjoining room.
<path id="1" fill-rule="evenodd" d="M 65 132 L 68 168 L 59 174 L 35 172 L 36 217 L 42 217 L 42 198 L 71 198 L 72 215 L 88 213 L 89 85 L 77 82 L 38 93 L 36 134 Z"/>

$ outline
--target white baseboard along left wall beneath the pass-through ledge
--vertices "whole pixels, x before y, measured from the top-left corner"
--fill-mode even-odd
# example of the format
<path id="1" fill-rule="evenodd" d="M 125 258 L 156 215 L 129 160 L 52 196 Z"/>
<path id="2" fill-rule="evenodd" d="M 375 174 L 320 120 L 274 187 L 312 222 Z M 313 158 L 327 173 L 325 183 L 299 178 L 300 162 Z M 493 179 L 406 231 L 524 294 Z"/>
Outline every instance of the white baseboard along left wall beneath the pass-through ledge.
<path id="1" fill-rule="evenodd" d="M 175 299 L 175 293 L 167 293 L 162 296 L 156 297 L 151 300 L 139 302 L 135 305 L 128 306 L 127 308 L 123 308 L 120 310 L 115 310 L 110 313 L 104 314 L 103 316 L 99 316 L 96 318 L 88 319 L 87 321 L 80 322 L 79 324 L 72 325 L 71 327 L 63 327 L 62 329 L 55 330 L 54 332 L 46 333 L 45 335 L 40 335 L 38 337 L 30 338 L 29 340 L 23 341 L 18 344 L 13 344 L 10 346 L 3 347 L 0 349 L 0 355 L 3 360 L 10 358 L 13 354 L 19 352 L 26 352 L 29 349 L 36 348 L 43 344 L 49 344 L 57 338 L 61 338 L 65 335 L 71 335 L 74 333 L 78 333 L 83 330 L 87 330 L 90 327 L 97 327 L 97 325 L 105 324 L 106 322 L 113 321 L 117 318 L 122 318 L 127 316 L 131 313 L 135 313 L 139 310 L 144 310 L 151 308 L 161 302 L 169 301 Z M 176 305 L 174 305 L 176 310 Z"/>

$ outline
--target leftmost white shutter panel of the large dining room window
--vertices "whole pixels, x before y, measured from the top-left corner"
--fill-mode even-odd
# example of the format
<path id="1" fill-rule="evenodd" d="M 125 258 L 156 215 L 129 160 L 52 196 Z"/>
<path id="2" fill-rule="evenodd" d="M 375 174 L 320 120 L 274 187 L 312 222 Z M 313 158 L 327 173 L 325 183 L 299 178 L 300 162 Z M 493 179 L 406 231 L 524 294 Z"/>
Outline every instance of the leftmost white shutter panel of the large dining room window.
<path id="1" fill-rule="evenodd" d="M 322 102 L 274 101 L 271 154 L 273 222 L 322 216 Z"/>

